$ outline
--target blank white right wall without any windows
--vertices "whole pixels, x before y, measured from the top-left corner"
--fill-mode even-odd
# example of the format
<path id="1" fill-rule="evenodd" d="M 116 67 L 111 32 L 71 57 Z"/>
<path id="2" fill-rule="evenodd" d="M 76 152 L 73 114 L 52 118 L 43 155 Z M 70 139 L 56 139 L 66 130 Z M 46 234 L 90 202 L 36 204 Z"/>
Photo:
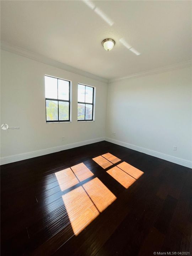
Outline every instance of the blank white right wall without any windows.
<path id="1" fill-rule="evenodd" d="M 108 87 L 106 136 L 190 167 L 191 104 L 191 68 L 113 82 Z"/>

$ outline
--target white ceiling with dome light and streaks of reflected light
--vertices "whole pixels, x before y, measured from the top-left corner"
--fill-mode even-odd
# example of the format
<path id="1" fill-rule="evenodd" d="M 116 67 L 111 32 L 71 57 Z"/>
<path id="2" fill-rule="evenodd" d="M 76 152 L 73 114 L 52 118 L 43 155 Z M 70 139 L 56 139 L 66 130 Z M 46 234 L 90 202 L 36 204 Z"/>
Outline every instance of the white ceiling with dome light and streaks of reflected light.
<path id="1" fill-rule="evenodd" d="M 1 1 L 1 40 L 112 79 L 190 60 L 191 4 Z M 105 38 L 116 41 L 110 52 L 101 45 Z M 141 54 L 128 50 L 122 38 Z"/>

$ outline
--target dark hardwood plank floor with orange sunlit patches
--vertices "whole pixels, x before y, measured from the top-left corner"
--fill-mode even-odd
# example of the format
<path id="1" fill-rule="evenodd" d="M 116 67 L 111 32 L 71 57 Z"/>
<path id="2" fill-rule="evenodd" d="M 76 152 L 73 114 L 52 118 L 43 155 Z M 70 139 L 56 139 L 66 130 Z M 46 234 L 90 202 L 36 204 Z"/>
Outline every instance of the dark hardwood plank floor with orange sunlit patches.
<path id="1" fill-rule="evenodd" d="M 122 146 L 1 166 L 1 255 L 191 254 L 191 226 L 192 170 Z"/>

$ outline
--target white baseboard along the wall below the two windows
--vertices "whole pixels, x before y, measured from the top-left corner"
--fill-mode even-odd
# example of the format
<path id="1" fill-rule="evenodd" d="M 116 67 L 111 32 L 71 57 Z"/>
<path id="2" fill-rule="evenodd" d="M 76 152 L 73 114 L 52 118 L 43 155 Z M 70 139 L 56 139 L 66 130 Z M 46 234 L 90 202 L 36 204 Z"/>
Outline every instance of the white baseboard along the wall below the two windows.
<path id="1" fill-rule="evenodd" d="M 37 156 L 47 155 L 47 154 L 55 153 L 55 152 L 62 151 L 65 149 L 76 148 L 78 146 L 84 146 L 84 145 L 95 143 L 95 142 L 101 142 L 103 140 L 105 140 L 105 137 L 84 140 L 82 142 L 75 142 L 75 143 L 62 145 L 62 146 L 55 146 L 53 148 L 35 150 L 35 151 L 23 153 L 23 154 L 5 156 L 5 157 L 0 158 L 0 165 L 9 164 L 11 162 L 17 162 L 17 161 L 21 161 L 21 160 L 25 160 L 25 159 L 29 159 L 29 158 L 34 158 Z"/>

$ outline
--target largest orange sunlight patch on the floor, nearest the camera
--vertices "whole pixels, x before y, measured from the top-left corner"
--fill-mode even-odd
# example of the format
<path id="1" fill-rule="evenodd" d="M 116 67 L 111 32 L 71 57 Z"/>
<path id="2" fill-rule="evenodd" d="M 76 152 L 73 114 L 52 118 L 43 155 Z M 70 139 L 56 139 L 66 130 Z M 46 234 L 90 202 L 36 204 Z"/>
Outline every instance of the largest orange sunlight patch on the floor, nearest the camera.
<path id="1" fill-rule="evenodd" d="M 116 199 L 98 178 L 75 188 L 62 198 L 75 235 L 78 235 Z"/>

